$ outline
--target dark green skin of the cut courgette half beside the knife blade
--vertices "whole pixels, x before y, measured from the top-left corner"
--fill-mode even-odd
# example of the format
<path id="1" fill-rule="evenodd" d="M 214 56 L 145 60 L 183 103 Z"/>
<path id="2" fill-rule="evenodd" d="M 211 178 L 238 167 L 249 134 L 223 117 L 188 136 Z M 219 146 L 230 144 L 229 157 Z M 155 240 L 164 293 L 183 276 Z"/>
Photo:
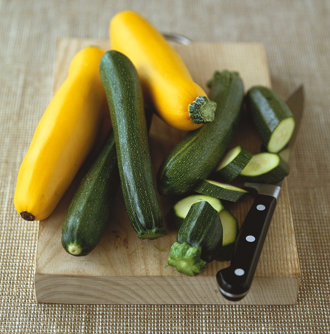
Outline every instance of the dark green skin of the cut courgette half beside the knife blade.
<path id="1" fill-rule="evenodd" d="M 246 104 L 266 147 L 279 123 L 293 117 L 287 104 L 267 87 L 252 87 L 246 94 Z"/>

